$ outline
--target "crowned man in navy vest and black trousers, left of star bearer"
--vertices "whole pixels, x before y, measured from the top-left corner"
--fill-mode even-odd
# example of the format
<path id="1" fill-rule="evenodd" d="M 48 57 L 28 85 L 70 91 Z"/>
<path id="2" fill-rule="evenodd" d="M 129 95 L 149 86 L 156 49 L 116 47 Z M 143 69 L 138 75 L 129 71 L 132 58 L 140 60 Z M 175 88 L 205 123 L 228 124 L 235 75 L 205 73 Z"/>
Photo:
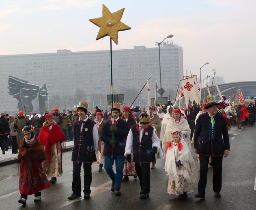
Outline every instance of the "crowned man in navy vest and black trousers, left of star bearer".
<path id="1" fill-rule="evenodd" d="M 84 199 L 90 198 L 92 183 L 92 163 L 97 161 L 95 152 L 98 149 L 99 134 L 96 123 L 86 115 L 88 103 L 80 101 L 77 107 L 79 119 L 73 124 L 74 147 L 71 161 L 73 162 L 72 195 L 69 200 L 81 197 L 81 166 L 84 167 Z"/>

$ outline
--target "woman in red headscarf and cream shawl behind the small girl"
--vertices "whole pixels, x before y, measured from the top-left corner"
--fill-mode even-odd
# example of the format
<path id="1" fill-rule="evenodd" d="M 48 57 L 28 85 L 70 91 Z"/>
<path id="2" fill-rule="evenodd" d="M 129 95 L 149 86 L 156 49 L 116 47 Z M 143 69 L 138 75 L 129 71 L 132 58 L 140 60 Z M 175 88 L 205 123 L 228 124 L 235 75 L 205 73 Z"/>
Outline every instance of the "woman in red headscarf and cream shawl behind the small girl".
<path id="1" fill-rule="evenodd" d="M 174 109 L 173 116 L 169 120 L 167 126 L 166 126 L 166 132 L 163 137 L 163 150 L 165 150 L 167 141 L 172 139 L 171 132 L 179 130 L 181 131 L 182 137 L 184 141 L 189 146 L 189 149 L 191 151 L 191 139 L 190 139 L 190 133 L 191 130 L 189 128 L 189 124 L 187 123 L 187 119 L 184 117 L 184 114 L 181 113 L 180 109 Z"/>

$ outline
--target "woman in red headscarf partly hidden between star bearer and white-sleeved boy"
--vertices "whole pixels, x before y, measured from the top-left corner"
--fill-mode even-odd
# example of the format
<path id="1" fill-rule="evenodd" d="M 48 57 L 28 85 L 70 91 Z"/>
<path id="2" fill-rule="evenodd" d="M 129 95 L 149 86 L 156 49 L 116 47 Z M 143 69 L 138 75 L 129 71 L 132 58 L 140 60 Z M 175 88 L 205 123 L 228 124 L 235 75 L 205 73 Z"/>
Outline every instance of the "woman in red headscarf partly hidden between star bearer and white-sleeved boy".
<path id="1" fill-rule="evenodd" d="M 130 107 L 124 106 L 123 107 L 123 115 L 121 116 L 121 119 L 125 120 L 129 124 L 129 128 L 131 126 L 137 124 L 136 117 L 131 112 Z M 137 178 L 137 173 L 135 170 L 135 164 L 133 162 L 133 153 L 131 154 L 131 162 L 129 163 L 127 161 L 127 158 L 125 157 L 125 166 L 123 168 L 123 182 L 129 181 L 129 176 L 133 176 L 134 178 Z"/>

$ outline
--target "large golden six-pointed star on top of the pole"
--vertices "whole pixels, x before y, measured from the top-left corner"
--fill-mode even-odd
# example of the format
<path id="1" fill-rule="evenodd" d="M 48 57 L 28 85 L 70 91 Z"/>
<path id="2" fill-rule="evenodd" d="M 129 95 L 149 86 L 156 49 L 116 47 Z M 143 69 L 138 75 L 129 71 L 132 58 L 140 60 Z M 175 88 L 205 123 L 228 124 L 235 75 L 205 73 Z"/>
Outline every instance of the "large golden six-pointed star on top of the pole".
<path id="1" fill-rule="evenodd" d="M 92 23 L 100 27 L 96 40 L 99 40 L 104 36 L 110 36 L 117 44 L 118 31 L 131 29 L 128 25 L 125 25 L 120 21 L 124 11 L 125 8 L 120 9 L 115 13 L 110 13 L 109 9 L 102 4 L 102 17 L 90 19 Z"/>

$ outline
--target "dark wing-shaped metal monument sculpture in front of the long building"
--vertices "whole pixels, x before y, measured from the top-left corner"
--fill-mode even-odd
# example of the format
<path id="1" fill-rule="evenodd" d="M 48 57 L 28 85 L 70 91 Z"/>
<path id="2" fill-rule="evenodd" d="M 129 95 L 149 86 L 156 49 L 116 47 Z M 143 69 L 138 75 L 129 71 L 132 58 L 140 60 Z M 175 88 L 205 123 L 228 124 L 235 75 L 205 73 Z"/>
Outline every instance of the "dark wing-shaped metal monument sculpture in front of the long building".
<path id="1" fill-rule="evenodd" d="M 26 110 L 24 111 L 32 112 L 34 109 L 32 100 L 37 98 L 38 93 L 39 108 L 40 110 L 45 110 L 45 101 L 47 100 L 48 95 L 48 90 L 45 84 L 39 88 L 38 85 L 30 84 L 26 80 L 22 80 L 13 76 L 9 76 L 8 84 L 8 93 L 18 100 L 17 108 L 19 110 L 23 110 L 23 107 L 25 107 Z"/>

